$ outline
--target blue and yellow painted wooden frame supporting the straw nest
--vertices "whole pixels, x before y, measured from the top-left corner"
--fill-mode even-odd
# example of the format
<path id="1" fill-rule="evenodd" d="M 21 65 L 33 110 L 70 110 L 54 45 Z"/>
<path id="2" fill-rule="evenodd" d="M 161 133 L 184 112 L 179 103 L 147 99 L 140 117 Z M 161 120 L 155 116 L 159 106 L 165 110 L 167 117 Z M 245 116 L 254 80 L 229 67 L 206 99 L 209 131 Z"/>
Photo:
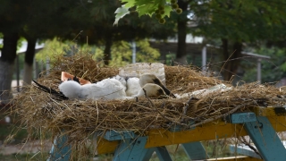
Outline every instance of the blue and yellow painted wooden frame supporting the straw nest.
<path id="1" fill-rule="evenodd" d="M 212 123 L 205 123 L 189 131 L 166 131 L 163 129 L 150 130 L 147 132 L 146 137 L 138 137 L 131 131 L 122 132 L 121 134 L 110 131 L 109 136 L 105 135 L 105 137 L 100 137 L 98 139 L 100 141 L 97 142 L 97 154 L 113 153 L 115 151 L 115 161 L 134 160 L 134 158 L 136 158 L 135 160 L 145 161 L 152 156 L 154 151 L 156 151 L 158 157 L 161 157 L 160 160 L 171 160 L 170 155 L 168 155 L 169 157 L 164 157 L 166 156 L 164 155 L 164 146 L 182 144 L 190 159 L 206 159 L 205 149 L 198 141 L 218 140 L 249 134 L 258 150 L 264 153 L 265 156 L 263 157 L 265 160 L 286 158 L 285 148 L 283 148 L 281 140 L 279 140 L 275 133 L 277 131 L 286 131 L 286 119 L 284 116 L 286 114 L 284 112 L 285 107 L 282 108 L 283 109 L 257 107 L 254 109 L 254 112 L 256 114 L 258 113 L 257 115 L 269 115 L 267 117 L 253 117 L 253 113 L 233 114 L 233 118 L 229 120 L 229 123 L 227 121 L 217 120 Z M 255 122 L 256 119 L 257 122 Z M 260 127 L 261 123 L 263 124 L 263 128 Z M 69 150 L 71 147 L 63 146 L 66 140 L 67 139 L 64 139 L 63 136 L 62 140 L 56 141 L 55 146 L 51 150 L 51 156 L 57 156 L 58 158 L 64 157 L 65 159 L 69 157 Z M 272 143 L 272 140 L 275 140 L 276 142 Z M 265 145 L 267 145 L 266 148 Z M 55 152 L 55 148 L 61 147 L 62 151 L 60 153 Z M 192 151 L 192 148 L 198 148 L 196 152 L 198 153 L 198 156 L 196 156 L 196 153 L 189 153 L 189 151 Z M 279 153 L 270 155 L 269 148 L 279 148 Z M 140 154 L 138 151 L 140 151 Z M 282 157 L 277 157 L 279 156 L 278 154 L 283 155 Z"/>

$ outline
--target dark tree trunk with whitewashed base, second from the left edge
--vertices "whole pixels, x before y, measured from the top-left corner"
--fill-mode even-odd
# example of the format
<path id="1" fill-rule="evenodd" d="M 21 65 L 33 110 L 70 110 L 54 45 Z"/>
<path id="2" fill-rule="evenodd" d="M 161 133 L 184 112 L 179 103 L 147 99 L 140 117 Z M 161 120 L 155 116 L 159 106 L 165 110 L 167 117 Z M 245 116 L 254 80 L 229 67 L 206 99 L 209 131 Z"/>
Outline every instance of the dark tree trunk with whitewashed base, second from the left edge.
<path id="1" fill-rule="evenodd" d="M 28 40 L 28 47 L 25 54 L 23 85 L 31 84 L 33 78 L 33 63 L 35 56 L 35 47 L 37 38 L 26 38 Z"/>

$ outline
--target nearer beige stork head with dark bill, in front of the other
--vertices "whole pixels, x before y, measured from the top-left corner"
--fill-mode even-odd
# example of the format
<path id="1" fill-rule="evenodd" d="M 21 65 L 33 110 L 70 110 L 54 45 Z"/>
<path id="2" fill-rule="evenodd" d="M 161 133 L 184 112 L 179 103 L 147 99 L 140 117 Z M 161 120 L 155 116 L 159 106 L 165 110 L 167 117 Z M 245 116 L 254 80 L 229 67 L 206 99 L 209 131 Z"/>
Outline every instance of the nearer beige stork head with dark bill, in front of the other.
<path id="1" fill-rule="evenodd" d="M 145 96 L 145 93 L 146 96 L 150 98 L 167 97 L 164 89 L 154 83 L 145 84 L 135 97 L 143 97 Z"/>

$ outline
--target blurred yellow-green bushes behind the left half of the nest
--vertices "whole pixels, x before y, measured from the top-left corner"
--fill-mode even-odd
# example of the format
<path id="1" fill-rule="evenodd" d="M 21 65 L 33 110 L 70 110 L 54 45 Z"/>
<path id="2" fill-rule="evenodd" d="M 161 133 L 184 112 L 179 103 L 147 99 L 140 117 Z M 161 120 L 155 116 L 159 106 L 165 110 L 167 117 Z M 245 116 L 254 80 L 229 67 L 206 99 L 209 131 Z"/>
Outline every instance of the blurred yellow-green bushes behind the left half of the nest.
<path id="1" fill-rule="evenodd" d="M 160 53 L 155 48 L 150 47 L 147 39 L 136 41 L 136 62 L 156 62 L 160 57 Z M 36 59 L 39 62 L 46 63 L 48 57 L 53 61 L 54 55 L 74 55 L 80 53 L 88 53 L 95 55 L 95 60 L 101 61 L 104 59 L 104 47 L 77 45 L 71 41 L 60 41 L 57 38 L 46 40 L 45 47 L 38 52 Z M 122 66 L 130 64 L 132 61 L 131 43 L 127 41 L 118 41 L 114 43 L 112 50 L 112 66 Z"/>

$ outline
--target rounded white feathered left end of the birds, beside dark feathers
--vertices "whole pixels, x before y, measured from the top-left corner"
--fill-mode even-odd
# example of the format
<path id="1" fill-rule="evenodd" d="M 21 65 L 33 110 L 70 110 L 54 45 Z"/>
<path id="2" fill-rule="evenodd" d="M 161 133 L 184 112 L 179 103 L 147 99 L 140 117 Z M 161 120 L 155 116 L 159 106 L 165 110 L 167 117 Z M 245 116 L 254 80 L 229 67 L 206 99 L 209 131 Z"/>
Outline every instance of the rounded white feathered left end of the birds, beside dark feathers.
<path id="1" fill-rule="evenodd" d="M 81 85 L 77 81 L 74 81 L 74 80 L 63 81 L 59 85 L 59 89 L 65 97 L 79 98 Z"/>

